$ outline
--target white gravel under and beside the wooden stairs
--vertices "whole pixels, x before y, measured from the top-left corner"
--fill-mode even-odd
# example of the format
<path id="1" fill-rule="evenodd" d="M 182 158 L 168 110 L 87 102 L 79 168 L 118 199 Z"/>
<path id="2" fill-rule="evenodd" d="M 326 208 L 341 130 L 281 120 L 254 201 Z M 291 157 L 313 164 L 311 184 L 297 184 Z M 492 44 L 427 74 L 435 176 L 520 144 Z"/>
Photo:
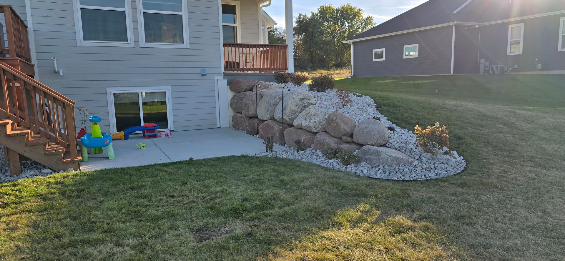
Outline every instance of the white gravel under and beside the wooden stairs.
<path id="1" fill-rule="evenodd" d="M 21 175 L 10 177 L 10 164 L 4 159 L 4 146 L 0 145 L 0 183 L 8 181 L 16 181 L 21 179 L 28 179 L 31 177 L 38 176 L 49 176 L 60 172 L 73 172 L 72 168 L 67 169 L 67 171 L 59 170 L 59 172 L 53 171 L 50 168 L 43 166 L 42 164 L 35 162 L 33 160 L 27 160 L 21 162 Z"/>

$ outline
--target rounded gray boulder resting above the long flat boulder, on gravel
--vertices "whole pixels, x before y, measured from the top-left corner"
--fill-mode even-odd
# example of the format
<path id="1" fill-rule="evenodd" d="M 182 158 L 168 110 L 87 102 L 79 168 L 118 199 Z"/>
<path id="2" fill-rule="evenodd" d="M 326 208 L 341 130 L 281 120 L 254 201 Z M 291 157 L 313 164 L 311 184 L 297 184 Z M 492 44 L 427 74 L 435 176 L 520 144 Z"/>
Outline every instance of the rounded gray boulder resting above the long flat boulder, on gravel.
<path id="1" fill-rule="evenodd" d="M 355 127 L 353 141 L 363 145 L 383 146 L 388 142 L 388 130 L 380 120 L 366 119 Z"/>

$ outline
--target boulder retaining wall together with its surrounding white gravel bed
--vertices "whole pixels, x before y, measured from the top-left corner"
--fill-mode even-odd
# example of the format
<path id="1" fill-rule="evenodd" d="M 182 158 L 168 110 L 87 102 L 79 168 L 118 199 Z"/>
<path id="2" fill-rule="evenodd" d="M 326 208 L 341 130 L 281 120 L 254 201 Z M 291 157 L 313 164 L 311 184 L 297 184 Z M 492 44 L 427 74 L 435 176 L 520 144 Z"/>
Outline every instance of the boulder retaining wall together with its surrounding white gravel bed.
<path id="1" fill-rule="evenodd" d="M 275 143 L 289 149 L 254 156 L 299 159 L 391 180 L 437 179 L 457 174 L 467 166 L 455 151 L 453 156 L 443 155 L 447 148 L 436 156 L 425 153 L 418 146 L 416 135 L 387 120 L 371 97 L 351 93 L 351 103 L 342 107 L 335 90 L 310 92 L 307 84 L 286 84 L 290 91 L 283 91 L 282 84 L 257 84 L 258 81 L 232 80 L 230 89 L 237 92 L 231 99 L 235 111 L 233 128 L 263 139 L 273 136 Z M 295 151 L 294 141 L 298 139 L 308 149 Z M 344 166 L 338 159 L 328 159 L 327 148 L 355 151 L 360 163 Z"/>

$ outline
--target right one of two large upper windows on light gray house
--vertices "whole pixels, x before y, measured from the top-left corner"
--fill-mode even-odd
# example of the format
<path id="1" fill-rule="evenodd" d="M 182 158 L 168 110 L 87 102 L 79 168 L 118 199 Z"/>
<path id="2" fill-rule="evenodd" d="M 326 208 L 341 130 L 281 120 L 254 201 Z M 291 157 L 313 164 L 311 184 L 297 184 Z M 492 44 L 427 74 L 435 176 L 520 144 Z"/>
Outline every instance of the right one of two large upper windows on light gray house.
<path id="1" fill-rule="evenodd" d="M 188 47 L 186 0 L 138 0 L 140 46 Z"/>

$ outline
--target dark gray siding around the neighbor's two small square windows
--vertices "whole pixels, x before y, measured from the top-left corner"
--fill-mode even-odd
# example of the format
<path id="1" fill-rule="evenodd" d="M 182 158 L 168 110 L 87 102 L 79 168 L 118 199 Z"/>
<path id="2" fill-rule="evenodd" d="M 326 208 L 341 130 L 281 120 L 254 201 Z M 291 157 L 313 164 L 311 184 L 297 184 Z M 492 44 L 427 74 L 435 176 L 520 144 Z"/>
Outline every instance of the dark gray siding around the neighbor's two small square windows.
<path id="1" fill-rule="evenodd" d="M 441 75 L 451 73 L 453 27 L 354 42 L 354 77 Z M 419 43 L 417 58 L 403 58 L 404 46 Z M 385 48 L 385 59 L 373 62 L 372 51 Z"/>

